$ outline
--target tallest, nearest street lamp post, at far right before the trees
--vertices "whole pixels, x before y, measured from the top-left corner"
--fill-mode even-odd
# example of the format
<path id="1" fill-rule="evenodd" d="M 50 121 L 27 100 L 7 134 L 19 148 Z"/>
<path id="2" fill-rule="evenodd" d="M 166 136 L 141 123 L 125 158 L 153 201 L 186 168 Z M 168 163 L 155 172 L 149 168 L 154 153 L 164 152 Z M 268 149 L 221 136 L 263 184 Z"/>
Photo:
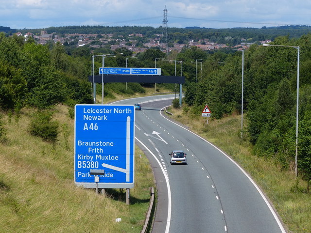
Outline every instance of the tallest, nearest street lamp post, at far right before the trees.
<path id="1" fill-rule="evenodd" d="M 298 176 L 298 104 L 299 104 L 299 57 L 300 47 L 299 46 L 281 46 L 263 44 L 263 46 L 277 46 L 277 47 L 292 47 L 297 49 L 297 97 L 296 97 L 296 150 L 295 150 L 295 175 Z"/>

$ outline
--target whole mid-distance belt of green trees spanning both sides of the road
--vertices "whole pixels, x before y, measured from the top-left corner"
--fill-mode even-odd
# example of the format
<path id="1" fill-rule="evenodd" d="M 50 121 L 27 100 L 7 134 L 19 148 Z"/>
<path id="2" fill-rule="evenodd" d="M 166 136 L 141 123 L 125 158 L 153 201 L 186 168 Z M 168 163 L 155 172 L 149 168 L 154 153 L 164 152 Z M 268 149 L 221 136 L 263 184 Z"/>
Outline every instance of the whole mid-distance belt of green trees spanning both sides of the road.
<path id="1" fill-rule="evenodd" d="M 308 181 L 309 187 L 311 34 L 297 39 L 280 36 L 273 43 L 300 47 L 298 172 Z M 24 106 L 49 109 L 57 103 L 65 103 L 73 108 L 77 103 L 92 103 L 92 87 L 87 81 L 91 55 L 123 53 L 105 59 L 105 67 L 125 67 L 126 58 L 133 56 L 126 48 L 100 49 L 91 51 L 89 47 L 78 47 L 68 50 L 60 43 L 37 45 L 32 38 L 25 42 L 24 37 L 0 33 L 0 109 L 17 114 Z M 216 119 L 241 113 L 241 51 L 203 51 L 198 47 L 185 47 L 180 53 L 172 51 L 169 58 L 164 59 L 178 61 L 176 65 L 159 59 L 165 57 L 160 49 L 147 49 L 137 54 L 137 59 L 129 59 L 128 67 L 155 67 L 158 59 L 156 67 L 162 69 L 162 75 L 179 76 L 182 72 L 186 78 L 186 105 L 183 108 L 192 118 L 200 117 L 205 104 Z M 94 70 L 97 72 L 99 67 L 102 67 L 100 57 L 94 61 Z M 254 44 L 244 52 L 243 109 L 248 124 L 243 139 L 254 145 L 254 154 L 274 157 L 283 169 L 292 169 L 294 164 L 296 72 L 295 48 Z M 113 98 L 114 93 L 143 93 L 142 86 L 152 85 L 107 83 L 104 96 Z M 161 85 L 174 91 L 173 84 Z M 97 91 L 101 94 L 101 88 Z M 40 119 L 50 119 L 48 116 Z"/>

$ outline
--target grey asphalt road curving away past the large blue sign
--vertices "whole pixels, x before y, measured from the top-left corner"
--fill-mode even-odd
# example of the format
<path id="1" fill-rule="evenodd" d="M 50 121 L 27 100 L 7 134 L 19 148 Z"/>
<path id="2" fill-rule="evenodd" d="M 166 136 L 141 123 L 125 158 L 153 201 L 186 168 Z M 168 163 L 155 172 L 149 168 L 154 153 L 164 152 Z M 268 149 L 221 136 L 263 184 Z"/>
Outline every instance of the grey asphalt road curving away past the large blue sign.
<path id="1" fill-rule="evenodd" d="M 136 139 L 156 178 L 153 233 L 285 233 L 259 187 L 230 157 L 163 114 L 173 95 L 128 99 L 136 111 Z M 170 165 L 172 150 L 187 165 Z"/>

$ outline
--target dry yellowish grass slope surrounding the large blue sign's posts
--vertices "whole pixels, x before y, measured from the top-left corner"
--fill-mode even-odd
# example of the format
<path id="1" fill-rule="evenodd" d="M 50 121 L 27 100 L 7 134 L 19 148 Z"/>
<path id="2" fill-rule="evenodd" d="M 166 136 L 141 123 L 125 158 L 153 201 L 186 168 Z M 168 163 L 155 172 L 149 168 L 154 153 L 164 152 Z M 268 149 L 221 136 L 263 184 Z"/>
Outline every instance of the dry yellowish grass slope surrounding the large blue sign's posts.
<path id="1" fill-rule="evenodd" d="M 125 204 L 123 189 L 108 189 L 103 196 L 75 186 L 74 121 L 67 107 L 58 105 L 54 110 L 53 120 L 67 126 L 59 128 L 53 144 L 30 135 L 33 109 L 22 109 L 17 122 L 2 118 L 7 140 L 0 142 L 0 232 L 140 232 L 149 206 L 149 187 L 155 186 L 148 159 L 136 147 L 130 205 Z M 115 221 L 118 217 L 121 222 Z"/>

